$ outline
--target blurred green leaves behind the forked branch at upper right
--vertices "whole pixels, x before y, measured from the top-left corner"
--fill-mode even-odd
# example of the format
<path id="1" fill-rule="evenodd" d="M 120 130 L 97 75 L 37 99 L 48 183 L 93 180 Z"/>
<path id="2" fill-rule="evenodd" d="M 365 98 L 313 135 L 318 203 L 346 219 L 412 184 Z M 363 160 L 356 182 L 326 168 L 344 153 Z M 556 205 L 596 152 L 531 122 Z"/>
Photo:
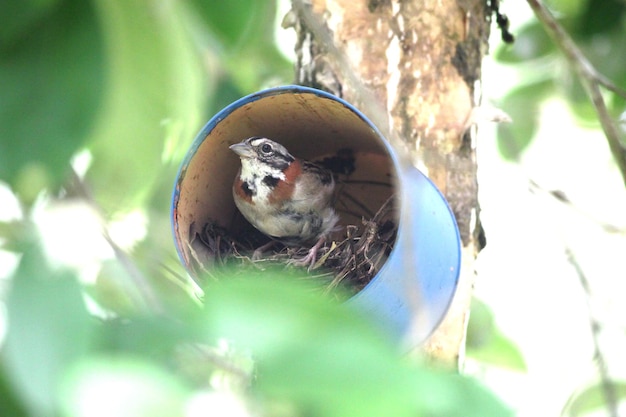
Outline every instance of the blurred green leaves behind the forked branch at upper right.
<path id="1" fill-rule="evenodd" d="M 622 0 L 550 0 L 545 2 L 559 23 L 595 68 L 616 85 L 626 88 L 626 66 L 616 57 L 626 56 L 626 3 Z M 511 16 L 515 19 L 514 16 Z M 501 155 L 516 160 L 535 140 L 538 109 L 548 98 L 564 97 L 581 124 L 599 126 L 596 112 L 561 52 L 537 20 L 516 33 L 513 45 L 502 44 L 496 60 L 514 66 L 519 86 L 501 101 L 513 123 L 498 127 Z M 609 111 L 618 119 L 626 100 L 608 93 Z"/>

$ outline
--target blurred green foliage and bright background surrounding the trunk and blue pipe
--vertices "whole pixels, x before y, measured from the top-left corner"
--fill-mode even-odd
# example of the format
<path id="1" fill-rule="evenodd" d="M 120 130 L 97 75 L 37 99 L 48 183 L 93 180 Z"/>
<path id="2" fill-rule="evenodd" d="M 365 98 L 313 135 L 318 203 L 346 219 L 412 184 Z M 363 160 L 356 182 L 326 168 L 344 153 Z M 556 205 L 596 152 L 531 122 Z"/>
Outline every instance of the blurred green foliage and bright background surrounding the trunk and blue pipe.
<path id="1" fill-rule="evenodd" d="M 216 111 L 292 81 L 285 3 L 0 4 L 0 414 L 586 415 L 606 394 L 590 319 L 624 398 L 624 187 L 522 2 L 503 4 L 516 43 L 492 36 L 485 60 L 485 101 L 514 122 L 481 127 L 488 246 L 469 377 L 399 358 L 379 330 L 280 274 L 198 301 L 172 245 L 173 180 Z M 549 4 L 624 86 L 625 3 Z M 619 118 L 624 100 L 609 102 Z"/>

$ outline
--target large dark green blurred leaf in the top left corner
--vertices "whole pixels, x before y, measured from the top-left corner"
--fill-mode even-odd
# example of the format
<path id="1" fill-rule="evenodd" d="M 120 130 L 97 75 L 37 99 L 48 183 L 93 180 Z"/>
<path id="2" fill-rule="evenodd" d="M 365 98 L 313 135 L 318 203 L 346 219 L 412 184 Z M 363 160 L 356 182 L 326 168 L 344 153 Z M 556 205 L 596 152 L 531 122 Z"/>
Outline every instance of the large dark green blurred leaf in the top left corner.
<path id="1" fill-rule="evenodd" d="M 14 3 L 8 7 L 17 9 Z M 20 185 L 19 194 L 33 172 L 41 186 L 60 183 L 93 124 L 103 84 L 102 44 L 89 2 L 24 8 L 19 27 L 0 45 L 0 179 Z M 0 27 L 13 18 L 0 16 Z"/>

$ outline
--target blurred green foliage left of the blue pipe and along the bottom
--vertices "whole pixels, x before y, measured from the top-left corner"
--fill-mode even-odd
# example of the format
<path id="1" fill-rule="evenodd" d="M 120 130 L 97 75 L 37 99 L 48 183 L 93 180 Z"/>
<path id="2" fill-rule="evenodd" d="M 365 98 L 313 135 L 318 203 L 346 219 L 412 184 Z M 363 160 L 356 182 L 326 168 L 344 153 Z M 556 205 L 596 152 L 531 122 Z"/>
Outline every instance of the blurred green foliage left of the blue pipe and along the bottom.
<path id="1" fill-rule="evenodd" d="M 291 82 L 276 7 L 0 3 L 0 186 L 21 210 L 0 222 L 19 259 L 0 287 L 0 415 L 508 415 L 304 280 L 266 271 L 202 300 L 184 277 L 169 225 L 178 165 L 216 111 Z"/>

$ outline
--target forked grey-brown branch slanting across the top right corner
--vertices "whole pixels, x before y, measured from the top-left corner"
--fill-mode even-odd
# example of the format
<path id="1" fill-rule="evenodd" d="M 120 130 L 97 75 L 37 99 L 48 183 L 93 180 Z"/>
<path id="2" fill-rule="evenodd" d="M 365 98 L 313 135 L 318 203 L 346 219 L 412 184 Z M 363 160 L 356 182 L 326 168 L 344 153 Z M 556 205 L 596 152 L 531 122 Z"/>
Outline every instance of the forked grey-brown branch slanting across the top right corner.
<path id="1" fill-rule="evenodd" d="M 574 68 L 581 83 L 585 86 L 587 94 L 593 103 L 598 120 L 604 131 L 604 135 L 609 143 L 609 148 L 613 154 L 615 162 L 622 174 L 622 180 L 626 185 L 626 146 L 621 139 L 621 133 L 609 115 L 604 97 L 600 91 L 600 86 L 626 99 L 626 91 L 613 84 L 610 80 L 600 74 L 581 50 L 576 46 L 572 38 L 554 19 L 554 16 L 543 5 L 541 0 L 527 0 L 533 9 L 537 19 L 543 24 L 552 40 L 561 49 L 569 64 Z"/>

